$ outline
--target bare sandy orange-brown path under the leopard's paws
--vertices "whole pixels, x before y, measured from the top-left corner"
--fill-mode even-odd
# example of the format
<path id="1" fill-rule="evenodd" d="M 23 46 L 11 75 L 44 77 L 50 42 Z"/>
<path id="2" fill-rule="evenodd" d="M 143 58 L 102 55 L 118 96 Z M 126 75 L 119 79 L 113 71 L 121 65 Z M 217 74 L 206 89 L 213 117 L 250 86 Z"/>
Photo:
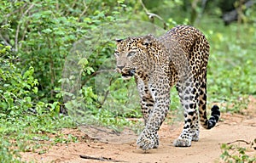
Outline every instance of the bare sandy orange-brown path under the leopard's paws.
<path id="1" fill-rule="evenodd" d="M 97 126 L 81 126 L 76 129 L 63 129 L 62 135 L 72 134 L 79 138 L 77 143 L 56 143 L 43 141 L 46 148 L 22 153 L 22 160 L 35 162 L 222 162 L 220 160 L 221 144 L 238 141 L 239 146 L 246 147 L 247 155 L 256 156 L 256 99 L 250 97 L 250 103 L 243 114 L 221 115 L 218 125 L 212 130 L 201 128 L 199 142 L 192 142 L 189 148 L 177 148 L 172 145 L 182 131 L 182 122 L 160 127 L 160 146 L 144 152 L 137 149 L 137 134 L 129 129 L 113 132 L 111 129 Z M 55 137 L 52 135 L 52 137 Z M 247 144 L 244 141 L 251 143 Z M 41 152 L 39 152 L 39 150 Z M 81 155 L 84 158 L 81 158 Z"/>

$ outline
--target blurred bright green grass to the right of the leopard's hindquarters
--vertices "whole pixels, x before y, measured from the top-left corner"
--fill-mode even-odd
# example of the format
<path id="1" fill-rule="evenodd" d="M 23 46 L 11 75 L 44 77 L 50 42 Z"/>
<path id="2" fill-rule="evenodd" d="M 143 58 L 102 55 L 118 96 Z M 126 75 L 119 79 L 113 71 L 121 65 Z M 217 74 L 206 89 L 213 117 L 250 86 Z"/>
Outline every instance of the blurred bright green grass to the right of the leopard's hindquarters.
<path id="1" fill-rule="evenodd" d="M 215 21 L 220 24 L 219 20 Z M 224 103 L 224 111 L 246 109 L 248 95 L 256 94 L 253 26 L 255 24 L 218 25 L 218 28 L 213 26 L 211 31 L 205 32 L 212 45 L 207 74 L 208 94 L 210 99 Z"/>

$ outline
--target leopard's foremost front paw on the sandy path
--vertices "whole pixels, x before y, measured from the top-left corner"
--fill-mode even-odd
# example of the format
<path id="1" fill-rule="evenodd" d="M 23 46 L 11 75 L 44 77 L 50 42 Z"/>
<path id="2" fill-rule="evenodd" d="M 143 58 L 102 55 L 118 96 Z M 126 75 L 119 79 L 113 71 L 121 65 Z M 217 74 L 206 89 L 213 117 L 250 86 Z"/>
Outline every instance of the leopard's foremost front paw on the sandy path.
<path id="1" fill-rule="evenodd" d="M 144 129 L 139 138 L 137 139 L 137 145 L 140 149 L 157 149 L 159 145 L 159 137 L 157 132 Z"/>

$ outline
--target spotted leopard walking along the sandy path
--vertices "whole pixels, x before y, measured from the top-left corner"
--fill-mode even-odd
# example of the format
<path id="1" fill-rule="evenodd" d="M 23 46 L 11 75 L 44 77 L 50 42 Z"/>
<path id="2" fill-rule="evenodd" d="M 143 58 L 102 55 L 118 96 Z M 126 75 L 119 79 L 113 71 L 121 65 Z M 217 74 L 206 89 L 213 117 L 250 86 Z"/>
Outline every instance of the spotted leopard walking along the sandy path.
<path id="1" fill-rule="evenodd" d="M 177 25 L 160 37 L 152 34 L 116 39 L 116 71 L 124 80 L 135 78 L 144 128 L 137 138 L 140 149 L 157 149 L 158 135 L 176 87 L 183 108 L 183 130 L 175 147 L 199 141 L 200 124 L 216 126 L 220 110 L 214 104 L 207 118 L 207 64 L 210 45 L 205 35 L 190 25 Z"/>

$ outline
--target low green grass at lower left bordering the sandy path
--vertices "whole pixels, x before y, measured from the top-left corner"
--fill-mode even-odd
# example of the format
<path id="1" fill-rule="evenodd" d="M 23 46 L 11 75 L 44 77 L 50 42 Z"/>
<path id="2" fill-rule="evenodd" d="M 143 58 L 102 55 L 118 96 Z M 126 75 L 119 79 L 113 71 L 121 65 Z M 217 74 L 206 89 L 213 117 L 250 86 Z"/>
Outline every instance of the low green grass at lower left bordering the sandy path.
<path id="1" fill-rule="evenodd" d="M 49 140 L 45 133 L 56 133 L 63 127 L 73 127 L 73 121 L 70 117 L 60 115 L 20 115 L 20 118 L 13 120 L 1 120 L 0 127 L 0 162 L 22 162 L 20 152 L 42 149 L 41 140 Z M 56 136 L 53 138 L 55 143 L 73 141 L 73 137 L 62 138 Z M 45 148 L 38 151 L 41 154 Z"/>

